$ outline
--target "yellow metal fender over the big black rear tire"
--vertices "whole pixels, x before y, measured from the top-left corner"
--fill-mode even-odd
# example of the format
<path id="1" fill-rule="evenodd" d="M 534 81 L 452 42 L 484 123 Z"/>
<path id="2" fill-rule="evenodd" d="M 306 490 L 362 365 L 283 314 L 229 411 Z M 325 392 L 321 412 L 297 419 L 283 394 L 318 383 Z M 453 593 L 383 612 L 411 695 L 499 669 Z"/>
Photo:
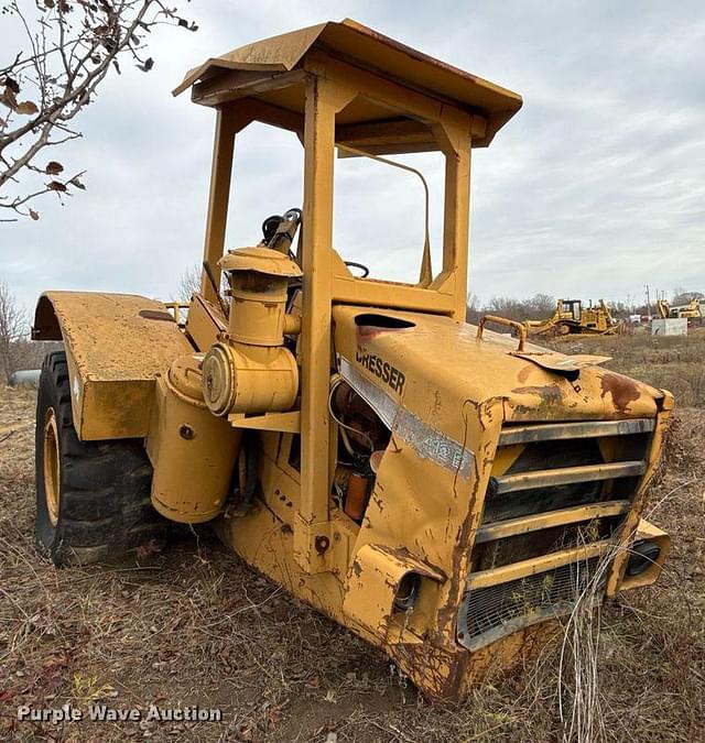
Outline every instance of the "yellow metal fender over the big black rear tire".
<path id="1" fill-rule="evenodd" d="M 47 292 L 33 337 L 66 345 L 74 426 L 84 440 L 147 436 L 158 374 L 193 350 L 162 303 L 128 294 Z"/>

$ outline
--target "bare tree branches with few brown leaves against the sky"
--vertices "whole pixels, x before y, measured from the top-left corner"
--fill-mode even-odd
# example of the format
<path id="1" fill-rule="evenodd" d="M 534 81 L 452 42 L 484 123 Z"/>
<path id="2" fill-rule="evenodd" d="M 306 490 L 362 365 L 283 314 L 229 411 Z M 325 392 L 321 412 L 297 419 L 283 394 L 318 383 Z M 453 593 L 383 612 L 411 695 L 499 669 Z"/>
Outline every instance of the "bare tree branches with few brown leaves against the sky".
<path id="1" fill-rule="evenodd" d="M 28 201 L 50 192 L 62 198 L 85 187 L 78 176 L 57 178 L 64 167 L 56 161 L 37 164 L 40 153 L 82 136 L 74 119 L 93 102 L 107 75 L 120 73 L 120 57 L 143 72 L 152 69 L 145 40 L 154 26 L 197 26 L 162 0 L 35 0 L 28 6 L 12 0 L 0 9 L 4 19 L 15 21 L 24 46 L 9 64 L 0 63 L 0 208 L 37 219 Z M 23 186 L 28 174 L 50 181 Z"/>

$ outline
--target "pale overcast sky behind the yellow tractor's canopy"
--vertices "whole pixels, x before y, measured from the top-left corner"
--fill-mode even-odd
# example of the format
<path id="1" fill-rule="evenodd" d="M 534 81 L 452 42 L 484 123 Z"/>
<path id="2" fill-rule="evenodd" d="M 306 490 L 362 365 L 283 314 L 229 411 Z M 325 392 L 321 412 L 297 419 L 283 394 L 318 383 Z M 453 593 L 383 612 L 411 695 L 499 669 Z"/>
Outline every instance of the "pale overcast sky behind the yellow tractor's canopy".
<path id="1" fill-rule="evenodd" d="M 474 153 L 470 292 L 639 303 L 646 283 L 652 293 L 705 292 L 702 0 L 180 4 L 200 30 L 161 30 L 154 69 L 123 64 L 80 120 L 84 139 L 52 154 L 67 172 L 87 170 L 87 190 L 63 207 L 37 203 L 37 222 L 0 225 L 0 281 L 28 307 L 46 288 L 173 298 L 200 260 L 215 119 L 171 89 L 209 56 L 346 15 L 523 96 L 490 147 Z M 0 17 L 0 57 L 15 39 Z M 404 160 L 435 186 L 437 254 L 441 161 Z M 228 248 L 253 244 L 264 217 L 301 205 L 301 165 L 290 133 L 242 136 Z M 413 176 L 336 164 L 344 258 L 413 280 L 422 243 Z"/>

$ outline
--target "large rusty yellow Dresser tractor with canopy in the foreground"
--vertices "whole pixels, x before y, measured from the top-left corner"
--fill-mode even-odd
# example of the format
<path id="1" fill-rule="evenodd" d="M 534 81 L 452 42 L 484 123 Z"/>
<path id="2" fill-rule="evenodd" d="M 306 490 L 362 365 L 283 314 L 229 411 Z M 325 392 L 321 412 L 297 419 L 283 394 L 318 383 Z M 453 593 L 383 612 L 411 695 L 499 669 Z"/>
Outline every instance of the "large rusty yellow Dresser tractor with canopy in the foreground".
<path id="1" fill-rule="evenodd" d="M 641 513 L 672 395 L 465 323 L 470 155 L 520 96 L 350 20 L 209 58 L 188 88 L 216 133 L 185 319 L 130 294 L 36 307 L 34 338 L 65 345 L 40 381 L 39 548 L 91 562 L 210 522 L 447 698 L 536 653 L 588 589 L 652 583 L 670 542 Z M 303 211 L 225 251 L 252 122 L 303 143 Z M 402 284 L 334 249 L 336 147 L 442 153 L 441 266 L 426 241 Z"/>

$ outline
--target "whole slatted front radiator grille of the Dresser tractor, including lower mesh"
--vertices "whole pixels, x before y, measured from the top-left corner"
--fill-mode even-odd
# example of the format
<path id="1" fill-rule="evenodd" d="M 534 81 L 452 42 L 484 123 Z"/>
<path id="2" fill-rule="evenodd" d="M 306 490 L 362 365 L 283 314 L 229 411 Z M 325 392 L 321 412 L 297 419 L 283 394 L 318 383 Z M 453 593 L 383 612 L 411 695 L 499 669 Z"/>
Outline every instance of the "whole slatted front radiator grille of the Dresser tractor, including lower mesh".
<path id="1" fill-rule="evenodd" d="M 484 573 L 487 586 L 494 582 L 487 580 L 492 570 L 507 575 L 507 566 L 609 544 L 647 470 L 653 429 L 650 418 L 502 428 L 496 458 L 500 466 L 489 478 L 458 612 L 462 645 L 477 649 L 566 614 L 588 587 L 590 599 L 601 599 L 603 586 L 590 583 L 597 557 L 486 588 L 473 588 L 473 575 Z"/>

